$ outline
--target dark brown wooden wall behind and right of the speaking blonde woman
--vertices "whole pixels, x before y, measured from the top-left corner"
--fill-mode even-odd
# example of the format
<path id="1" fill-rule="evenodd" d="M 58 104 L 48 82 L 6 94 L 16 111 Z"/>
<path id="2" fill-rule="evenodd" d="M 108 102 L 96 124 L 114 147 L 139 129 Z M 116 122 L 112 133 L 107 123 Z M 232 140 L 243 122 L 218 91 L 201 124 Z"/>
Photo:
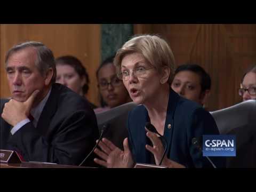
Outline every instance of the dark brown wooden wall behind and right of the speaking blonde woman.
<path id="1" fill-rule="evenodd" d="M 256 63 L 256 25 L 135 25 L 134 33 L 160 34 L 178 65 L 195 62 L 212 78 L 206 107 L 226 108 L 241 101 L 243 71 Z"/>

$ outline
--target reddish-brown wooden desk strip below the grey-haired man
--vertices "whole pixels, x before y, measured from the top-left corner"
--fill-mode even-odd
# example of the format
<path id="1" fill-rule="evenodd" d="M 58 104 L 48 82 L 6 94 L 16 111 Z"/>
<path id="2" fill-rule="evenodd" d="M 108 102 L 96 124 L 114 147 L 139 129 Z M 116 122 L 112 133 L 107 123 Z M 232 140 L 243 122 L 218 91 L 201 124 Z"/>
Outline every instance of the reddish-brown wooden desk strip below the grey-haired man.
<path id="1" fill-rule="evenodd" d="M 0 163 L 0 168 L 93 168 L 85 166 L 74 166 L 74 165 L 58 165 L 58 164 L 47 164 L 47 163 L 32 163 L 32 162 L 21 162 L 21 163 Z"/>

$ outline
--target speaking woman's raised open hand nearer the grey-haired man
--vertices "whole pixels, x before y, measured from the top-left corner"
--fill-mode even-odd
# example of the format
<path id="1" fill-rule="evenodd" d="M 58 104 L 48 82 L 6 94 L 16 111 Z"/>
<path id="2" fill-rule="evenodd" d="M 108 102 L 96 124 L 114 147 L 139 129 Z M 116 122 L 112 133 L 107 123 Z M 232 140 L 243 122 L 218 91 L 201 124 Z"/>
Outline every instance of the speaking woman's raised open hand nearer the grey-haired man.
<path id="1" fill-rule="evenodd" d="M 102 141 L 99 142 L 99 147 L 101 150 L 98 148 L 94 150 L 94 153 L 102 159 L 94 158 L 94 162 L 108 168 L 133 167 L 134 162 L 127 138 L 124 139 L 123 145 L 124 151 L 116 147 L 108 139 L 103 138 Z"/>

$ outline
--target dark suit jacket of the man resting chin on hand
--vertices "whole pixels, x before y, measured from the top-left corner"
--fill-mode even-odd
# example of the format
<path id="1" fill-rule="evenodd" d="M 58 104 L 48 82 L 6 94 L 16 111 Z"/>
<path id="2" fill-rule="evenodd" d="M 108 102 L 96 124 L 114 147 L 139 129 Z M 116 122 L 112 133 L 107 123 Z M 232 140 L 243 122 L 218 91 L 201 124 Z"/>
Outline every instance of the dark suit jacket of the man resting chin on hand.
<path id="1" fill-rule="evenodd" d="M 1 101 L 2 102 L 2 101 Z M 1 114 L 4 103 L 1 103 Z M 1 117 L 0 148 L 17 150 L 25 161 L 78 165 L 99 137 L 95 114 L 80 95 L 53 84 L 37 127 L 29 122 L 13 135 Z M 93 166 L 93 156 L 83 164 Z"/>

